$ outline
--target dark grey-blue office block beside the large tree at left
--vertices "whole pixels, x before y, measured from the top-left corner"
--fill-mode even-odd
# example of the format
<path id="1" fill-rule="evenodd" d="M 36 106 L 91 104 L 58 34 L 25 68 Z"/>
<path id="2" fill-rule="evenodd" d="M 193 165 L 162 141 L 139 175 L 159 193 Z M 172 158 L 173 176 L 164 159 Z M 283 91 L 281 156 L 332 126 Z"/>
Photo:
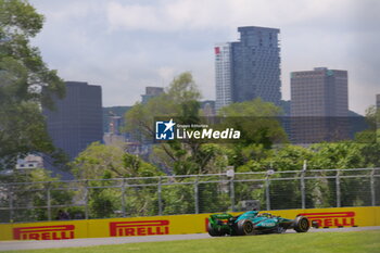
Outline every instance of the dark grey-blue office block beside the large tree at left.
<path id="1" fill-rule="evenodd" d="M 102 90 L 100 86 L 66 81 L 66 97 L 55 99 L 55 110 L 42 109 L 48 131 L 56 148 L 71 160 L 91 142 L 102 141 Z"/>

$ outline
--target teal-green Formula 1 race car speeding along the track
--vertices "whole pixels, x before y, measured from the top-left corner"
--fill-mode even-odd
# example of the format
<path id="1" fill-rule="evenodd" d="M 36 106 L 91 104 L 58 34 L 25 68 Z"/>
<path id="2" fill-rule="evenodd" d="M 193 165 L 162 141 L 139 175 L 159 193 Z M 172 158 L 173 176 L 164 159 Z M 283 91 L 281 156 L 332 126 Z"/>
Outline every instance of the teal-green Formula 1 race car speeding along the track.
<path id="1" fill-rule="evenodd" d="M 316 223 L 309 223 L 307 217 L 296 216 L 294 219 L 274 216 L 269 213 L 249 211 L 241 215 L 213 214 L 208 218 L 207 230 L 212 237 L 250 236 L 259 233 L 282 233 L 287 229 L 297 232 L 307 232 L 311 225 L 318 227 Z"/>

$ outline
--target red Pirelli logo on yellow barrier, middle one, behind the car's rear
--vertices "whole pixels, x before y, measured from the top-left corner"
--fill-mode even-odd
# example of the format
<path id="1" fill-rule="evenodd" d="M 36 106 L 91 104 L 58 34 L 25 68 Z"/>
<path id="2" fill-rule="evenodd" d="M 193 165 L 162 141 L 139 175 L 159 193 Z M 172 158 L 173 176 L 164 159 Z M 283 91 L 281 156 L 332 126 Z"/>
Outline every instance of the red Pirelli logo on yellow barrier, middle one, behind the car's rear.
<path id="1" fill-rule="evenodd" d="M 111 237 L 156 236 L 169 233 L 169 220 L 110 223 Z"/>

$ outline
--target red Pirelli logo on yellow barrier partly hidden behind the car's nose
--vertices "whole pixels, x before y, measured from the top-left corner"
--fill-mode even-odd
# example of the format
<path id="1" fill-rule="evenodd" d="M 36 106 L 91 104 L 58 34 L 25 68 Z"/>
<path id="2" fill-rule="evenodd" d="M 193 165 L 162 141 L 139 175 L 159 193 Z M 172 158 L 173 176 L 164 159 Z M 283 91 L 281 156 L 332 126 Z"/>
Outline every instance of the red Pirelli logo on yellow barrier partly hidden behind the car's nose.
<path id="1" fill-rule="evenodd" d="M 311 222 L 315 220 L 319 227 L 356 227 L 355 212 L 307 213 L 299 215 L 306 216 Z"/>

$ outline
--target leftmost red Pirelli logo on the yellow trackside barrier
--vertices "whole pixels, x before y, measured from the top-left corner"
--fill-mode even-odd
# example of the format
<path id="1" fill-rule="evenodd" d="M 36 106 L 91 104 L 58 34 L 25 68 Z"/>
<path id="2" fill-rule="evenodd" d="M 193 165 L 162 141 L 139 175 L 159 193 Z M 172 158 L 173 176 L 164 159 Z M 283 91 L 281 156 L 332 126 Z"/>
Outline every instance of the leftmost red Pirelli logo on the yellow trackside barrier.
<path id="1" fill-rule="evenodd" d="M 75 238 L 74 225 L 13 228 L 14 240 L 65 240 Z"/>

